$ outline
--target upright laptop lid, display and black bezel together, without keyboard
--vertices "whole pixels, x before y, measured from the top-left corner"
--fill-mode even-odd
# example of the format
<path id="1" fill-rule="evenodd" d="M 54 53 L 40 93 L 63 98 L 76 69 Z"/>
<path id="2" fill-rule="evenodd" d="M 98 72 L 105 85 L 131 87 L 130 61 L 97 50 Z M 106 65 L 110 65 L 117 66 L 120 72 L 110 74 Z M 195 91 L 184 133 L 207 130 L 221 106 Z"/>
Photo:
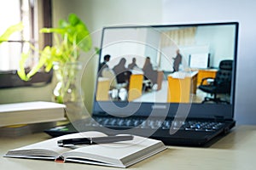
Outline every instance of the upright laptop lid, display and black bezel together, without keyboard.
<path id="1" fill-rule="evenodd" d="M 93 115 L 232 119 L 237 40 L 237 22 L 104 27 Z M 179 63 L 177 52 L 181 55 Z M 110 59 L 104 62 L 108 55 Z M 145 70 L 148 59 L 153 69 L 150 76 Z M 205 97 L 211 97 L 198 88 L 202 72 L 216 75 L 219 63 L 226 59 L 232 60 L 230 93 L 221 94 L 221 98 L 228 102 L 202 103 Z M 133 82 L 129 82 L 131 77 Z M 183 85 L 188 77 L 189 89 Z M 171 79 L 177 81 L 179 88 Z M 173 90 L 183 94 L 185 88 L 189 99 L 172 100 Z M 132 93 L 137 95 L 129 98 Z"/>

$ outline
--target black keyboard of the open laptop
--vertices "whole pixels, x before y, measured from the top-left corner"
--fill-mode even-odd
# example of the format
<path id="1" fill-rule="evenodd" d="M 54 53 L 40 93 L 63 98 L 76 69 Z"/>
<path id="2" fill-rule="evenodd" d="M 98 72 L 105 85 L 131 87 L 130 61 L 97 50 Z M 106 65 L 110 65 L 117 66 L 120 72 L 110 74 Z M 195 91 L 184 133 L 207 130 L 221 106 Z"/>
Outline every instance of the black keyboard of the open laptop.
<path id="1" fill-rule="evenodd" d="M 143 118 L 117 118 L 95 117 L 86 123 L 93 127 L 121 127 L 121 128 L 153 128 L 153 129 L 180 129 L 185 131 L 214 132 L 224 126 L 224 122 L 185 121 L 143 119 Z"/>

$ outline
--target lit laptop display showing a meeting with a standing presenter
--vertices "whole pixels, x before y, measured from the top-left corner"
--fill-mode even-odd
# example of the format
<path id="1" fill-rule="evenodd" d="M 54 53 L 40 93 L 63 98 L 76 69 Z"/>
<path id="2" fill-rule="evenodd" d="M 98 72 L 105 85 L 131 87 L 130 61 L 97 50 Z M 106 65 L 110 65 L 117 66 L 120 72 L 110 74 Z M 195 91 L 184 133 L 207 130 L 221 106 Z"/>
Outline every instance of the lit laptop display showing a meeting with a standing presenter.
<path id="1" fill-rule="evenodd" d="M 107 27 L 96 100 L 230 104 L 236 25 Z"/>

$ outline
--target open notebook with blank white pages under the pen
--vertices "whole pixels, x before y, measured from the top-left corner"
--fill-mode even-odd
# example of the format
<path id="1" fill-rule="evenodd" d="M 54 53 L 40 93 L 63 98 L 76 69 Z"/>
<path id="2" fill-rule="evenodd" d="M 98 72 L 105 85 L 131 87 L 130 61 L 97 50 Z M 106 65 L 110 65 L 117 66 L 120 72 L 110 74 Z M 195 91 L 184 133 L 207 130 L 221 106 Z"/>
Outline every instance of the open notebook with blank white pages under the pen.
<path id="1" fill-rule="evenodd" d="M 44 159 L 55 161 L 73 161 L 110 167 L 129 167 L 149 156 L 166 149 L 160 140 L 134 136 L 132 140 L 110 144 L 88 144 L 60 147 L 60 139 L 77 139 L 107 136 L 99 132 L 67 134 L 58 138 L 30 144 L 15 150 L 9 150 L 6 157 Z"/>

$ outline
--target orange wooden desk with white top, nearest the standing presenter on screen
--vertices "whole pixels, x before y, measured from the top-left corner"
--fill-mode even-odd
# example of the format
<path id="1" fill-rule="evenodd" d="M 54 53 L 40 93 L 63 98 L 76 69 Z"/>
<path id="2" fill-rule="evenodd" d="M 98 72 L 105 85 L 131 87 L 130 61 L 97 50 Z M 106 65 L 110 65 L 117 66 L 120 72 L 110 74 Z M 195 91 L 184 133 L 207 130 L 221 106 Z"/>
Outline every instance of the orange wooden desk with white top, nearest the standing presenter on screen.
<path id="1" fill-rule="evenodd" d="M 174 75 L 176 74 L 176 75 Z M 196 93 L 197 71 L 168 76 L 167 102 L 189 103 Z"/>

